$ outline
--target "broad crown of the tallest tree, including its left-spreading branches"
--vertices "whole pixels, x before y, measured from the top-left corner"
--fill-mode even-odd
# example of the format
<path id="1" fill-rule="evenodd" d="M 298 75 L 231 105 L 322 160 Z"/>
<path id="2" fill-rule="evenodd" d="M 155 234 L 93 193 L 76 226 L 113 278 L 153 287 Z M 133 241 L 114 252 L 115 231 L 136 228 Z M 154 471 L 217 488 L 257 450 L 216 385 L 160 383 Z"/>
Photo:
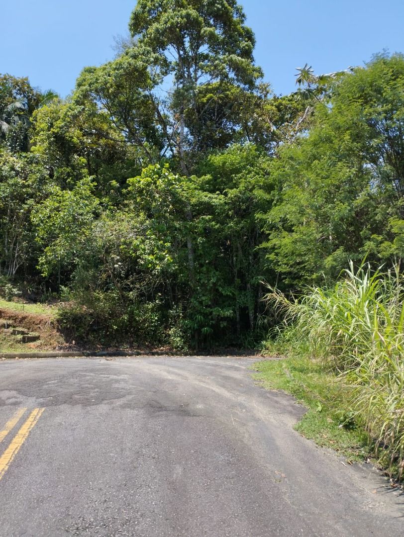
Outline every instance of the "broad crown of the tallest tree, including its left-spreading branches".
<path id="1" fill-rule="evenodd" d="M 243 103 L 259 94 L 262 71 L 245 20 L 234 0 L 139 0 L 133 46 L 85 69 L 75 101 L 95 101 L 149 162 L 171 157 L 189 175 L 201 151 L 251 139 Z"/>

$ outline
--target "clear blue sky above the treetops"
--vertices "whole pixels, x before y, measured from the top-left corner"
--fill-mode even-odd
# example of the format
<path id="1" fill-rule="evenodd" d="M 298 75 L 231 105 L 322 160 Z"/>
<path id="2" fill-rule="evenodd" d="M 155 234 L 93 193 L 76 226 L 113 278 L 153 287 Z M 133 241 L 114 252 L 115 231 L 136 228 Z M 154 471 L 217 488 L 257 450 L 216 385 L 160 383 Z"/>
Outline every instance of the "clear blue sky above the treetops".
<path id="1" fill-rule="evenodd" d="M 81 69 L 114 55 L 135 0 L 0 0 L 0 72 L 28 76 L 63 97 Z M 295 68 L 315 72 L 362 64 L 384 48 L 404 52 L 403 0 L 240 0 L 253 28 L 256 61 L 277 93 Z M 17 9 L 18 6 L 18 9 Z"/>

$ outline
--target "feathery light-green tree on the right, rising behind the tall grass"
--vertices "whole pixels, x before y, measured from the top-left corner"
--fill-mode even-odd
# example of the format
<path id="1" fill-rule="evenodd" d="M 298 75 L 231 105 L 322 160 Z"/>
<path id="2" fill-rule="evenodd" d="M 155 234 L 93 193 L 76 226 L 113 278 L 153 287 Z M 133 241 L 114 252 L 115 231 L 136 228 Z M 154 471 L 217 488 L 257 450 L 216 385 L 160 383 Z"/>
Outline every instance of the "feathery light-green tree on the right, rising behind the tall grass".
<path id="1" fill-rule="evenodd" d="M 309 132 L 279 150 L 264 222 L 269 259 L 289 284 L 401 253 L 403 110 L 404 58 L 378 56 L 335 82 Z"/>

